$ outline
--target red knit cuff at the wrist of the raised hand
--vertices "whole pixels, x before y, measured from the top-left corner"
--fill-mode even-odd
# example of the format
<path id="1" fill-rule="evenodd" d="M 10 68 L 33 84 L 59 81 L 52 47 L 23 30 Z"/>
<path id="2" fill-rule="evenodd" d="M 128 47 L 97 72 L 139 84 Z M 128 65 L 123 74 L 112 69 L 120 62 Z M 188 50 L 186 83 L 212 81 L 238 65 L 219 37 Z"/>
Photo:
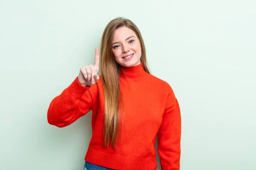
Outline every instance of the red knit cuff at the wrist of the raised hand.
<path id="1" fill-rule="evenodd" d="M 85 91 L 87 91 L 91 86 L 84 87 L 79 81 L 78 77 L 71 83 L 71 85 L 67 88 L 67 91 L 74 96 L 76 99 L 81 98 Z"/>

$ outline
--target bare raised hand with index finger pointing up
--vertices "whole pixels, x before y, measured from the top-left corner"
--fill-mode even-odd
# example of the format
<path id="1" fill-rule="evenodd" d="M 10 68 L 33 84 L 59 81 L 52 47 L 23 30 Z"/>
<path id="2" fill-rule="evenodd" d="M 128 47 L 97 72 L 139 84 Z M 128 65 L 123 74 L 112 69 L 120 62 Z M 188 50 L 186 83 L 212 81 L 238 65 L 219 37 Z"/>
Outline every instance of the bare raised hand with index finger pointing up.
<path id="1" fill-rule="evenodd" d="M 93 85 L 99 80 L 99 50 L 95 49 L 95 60 L 94 65 L 86 65 L 80 68 L 78 81 L 84 87 Z"/>

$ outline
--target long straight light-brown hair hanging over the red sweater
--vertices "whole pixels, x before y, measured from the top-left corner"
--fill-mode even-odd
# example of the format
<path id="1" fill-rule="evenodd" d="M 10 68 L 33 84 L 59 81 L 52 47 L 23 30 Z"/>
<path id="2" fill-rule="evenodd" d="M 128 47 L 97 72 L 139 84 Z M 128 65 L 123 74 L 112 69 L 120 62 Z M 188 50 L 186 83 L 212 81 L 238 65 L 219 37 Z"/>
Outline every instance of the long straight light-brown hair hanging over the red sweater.
<path id="1" fill-rule="evenodd" d="M 137 35 L 142 49 L 140 60 L 144 70 L 151 74 L 147 66 L 145 45 L 140 30 L 133 22 L 131 22 L 131 20 L 122 17 L 117 17 L 111 20 L 102 34 L 100 45 L 100 72 L 105 96 L 104 142 L 105 147 L 108 147 L 111 141 L 111 144 L 115 149 L 117 139 L 120 137 L 120 127 L 122 126 L 124 119 L 122 112 L 119 113 L 119 110 L 123 108 L 119 85 L 119 75 L 121 74 L 121 71 L 119 69 L 119 64 L 115 61 L 112 51 L 113 33 L 120 27 L 130 28 Z"/>

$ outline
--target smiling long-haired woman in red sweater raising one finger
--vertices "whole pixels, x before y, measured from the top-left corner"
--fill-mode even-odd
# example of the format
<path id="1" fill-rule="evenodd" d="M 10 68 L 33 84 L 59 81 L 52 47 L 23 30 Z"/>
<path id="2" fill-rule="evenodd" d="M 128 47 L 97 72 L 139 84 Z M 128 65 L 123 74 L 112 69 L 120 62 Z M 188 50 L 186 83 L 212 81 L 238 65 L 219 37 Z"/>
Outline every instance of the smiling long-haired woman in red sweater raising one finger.
<path id="1" fill-rule="evenodd" d="M 100 55 L 49 105 L 49 124 L 65 127 L 92 110 L 87 170 L 180 169 L 180 108 L 170 85 L 150 74 L 137 26 L 116 18 L 106 26 Z M 98 75 L 99 68 L 101 76 Z"/>

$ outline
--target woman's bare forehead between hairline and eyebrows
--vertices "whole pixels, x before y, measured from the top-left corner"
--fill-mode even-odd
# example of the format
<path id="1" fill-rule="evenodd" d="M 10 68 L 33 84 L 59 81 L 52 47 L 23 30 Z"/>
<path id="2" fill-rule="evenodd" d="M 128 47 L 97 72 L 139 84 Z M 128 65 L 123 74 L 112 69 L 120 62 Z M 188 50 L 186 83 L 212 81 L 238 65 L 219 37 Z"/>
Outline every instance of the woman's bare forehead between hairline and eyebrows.
<path id="1" fill-rule="evenodd" d="M 113 34 L 113 41 L 121 41 L 121 40 L 125 40 L 126 38 L 130 37 L 130 36 L 134 36 L 134 37 L 137 37 L 135 32 L 132 31 L 130 28 L 127 28 L 127 27 L 120 27 L 120 28 L 117 28 L 115 31 L 114 31 L 114 34 Z"/>

